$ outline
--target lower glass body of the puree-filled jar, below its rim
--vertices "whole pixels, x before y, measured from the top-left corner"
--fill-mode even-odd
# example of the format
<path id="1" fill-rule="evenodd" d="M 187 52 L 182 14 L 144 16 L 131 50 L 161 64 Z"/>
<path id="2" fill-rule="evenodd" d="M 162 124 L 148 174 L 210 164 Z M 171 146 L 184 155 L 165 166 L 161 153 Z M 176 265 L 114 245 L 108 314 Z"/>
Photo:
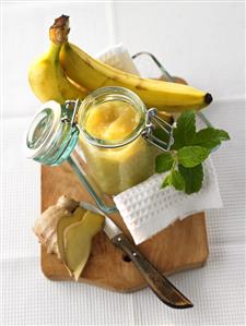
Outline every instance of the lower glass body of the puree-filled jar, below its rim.
<path id="1" fill-rule="evenodd" d="M 106 194 L 118 194 L 154 172 L 155 148 L 141 136 L 122 148 L 96 147 L 81 136 L 79 146 L 92 177 Z"/>

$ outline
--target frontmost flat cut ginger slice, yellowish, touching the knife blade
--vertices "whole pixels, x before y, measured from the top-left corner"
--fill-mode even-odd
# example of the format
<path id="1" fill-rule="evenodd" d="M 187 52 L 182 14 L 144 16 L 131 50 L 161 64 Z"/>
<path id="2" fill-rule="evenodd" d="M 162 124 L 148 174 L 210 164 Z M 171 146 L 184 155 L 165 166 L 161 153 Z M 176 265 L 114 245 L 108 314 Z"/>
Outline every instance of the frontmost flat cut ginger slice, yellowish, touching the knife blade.
<path id="1" fill-rule="evenodd" d="M 92 239 L 102 229 L 104 217 L 86 212 L 83 218 L 65 229 L 65 263 L 78 280 L 91 253 Z"/>

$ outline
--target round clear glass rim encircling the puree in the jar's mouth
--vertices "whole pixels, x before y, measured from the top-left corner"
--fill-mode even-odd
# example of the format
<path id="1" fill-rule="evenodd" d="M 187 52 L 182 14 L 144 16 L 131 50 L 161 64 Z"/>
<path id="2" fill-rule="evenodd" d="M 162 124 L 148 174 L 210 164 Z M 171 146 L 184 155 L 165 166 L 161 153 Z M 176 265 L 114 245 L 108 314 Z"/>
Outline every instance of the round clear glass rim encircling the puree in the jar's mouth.
<path id="1" fill-rule="evenodd" d="M 96 101 L 103 102 L 103 99 L 106 98 L 110 100 L 121 100 L 130 102 L 134 109 L 140 113 L 140 119 L 138 125 L 129 133 L 126 137 L 121 140 L 101 140 L 93 136 L 85 128 L 85 116 L 86 111 L 94 105 Z M 145 128 L 145 119 L 147 119 L 147 107 L 140 97 L 133 93 L 132 90 L 119 87 L 119 86 L 109 86 L 109 87 L 102 87 L 97 88 L 96 90 L 90 93 L 85 99 L 81 102 L 80 106 L 80 122 L 79 128 L 82 135 L 85 140 L 97 147 L 104 148 L 118 148 L 125 146 L 131 142 L 133 142 L 139 135 L 141 135 L 142 131 Z"/>

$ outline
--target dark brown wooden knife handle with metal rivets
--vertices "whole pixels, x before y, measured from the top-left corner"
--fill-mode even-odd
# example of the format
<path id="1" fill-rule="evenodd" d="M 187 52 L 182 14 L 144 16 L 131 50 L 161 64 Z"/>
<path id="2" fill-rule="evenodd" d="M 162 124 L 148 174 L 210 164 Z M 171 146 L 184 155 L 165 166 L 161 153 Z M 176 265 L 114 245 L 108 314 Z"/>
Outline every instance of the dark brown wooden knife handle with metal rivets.
<path id="1" fill-rule="evenodd" d="M 149 287 L 165 304 L 186 309 L 194 306 L 137 249 L 137 246 L 124 234 L 118 234 L 112 242 L 121 249 L 138 267 Z"/>

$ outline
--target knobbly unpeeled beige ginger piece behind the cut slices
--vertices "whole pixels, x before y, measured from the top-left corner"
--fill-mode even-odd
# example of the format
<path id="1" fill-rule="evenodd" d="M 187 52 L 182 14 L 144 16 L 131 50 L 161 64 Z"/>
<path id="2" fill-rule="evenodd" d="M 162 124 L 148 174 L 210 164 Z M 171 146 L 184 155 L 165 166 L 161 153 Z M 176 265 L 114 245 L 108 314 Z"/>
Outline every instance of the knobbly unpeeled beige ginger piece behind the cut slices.
<path id="1" fill-rule="evenodd" d="M 46 246 L 47 253 L 54 253 L 60 257 L 57 243 L 57 224 L 61 217 L 72 216 L 72 212 L 79 206 L 75 202 L 66 196 L 58 198 L 57 204 L 46 209 L 35 221 L 33 231 L 38 241 Z"/>

